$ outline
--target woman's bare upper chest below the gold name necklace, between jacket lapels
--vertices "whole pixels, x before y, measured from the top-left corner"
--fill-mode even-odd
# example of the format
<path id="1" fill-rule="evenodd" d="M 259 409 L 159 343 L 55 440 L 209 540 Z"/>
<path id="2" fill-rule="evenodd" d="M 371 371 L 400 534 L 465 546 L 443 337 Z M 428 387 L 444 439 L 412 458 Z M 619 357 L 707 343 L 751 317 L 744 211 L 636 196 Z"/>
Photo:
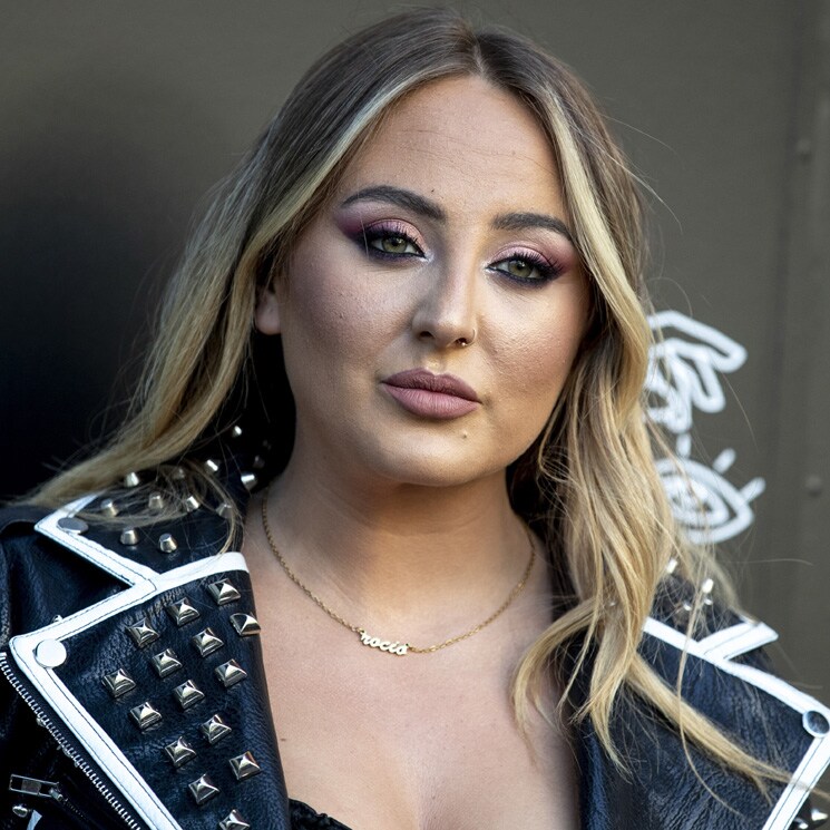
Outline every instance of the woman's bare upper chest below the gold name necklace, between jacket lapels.
<path id="1" fill-rule="evenodd" d="M 296 636 L 263 642 L 291 798 L 352 830 L 577 827 L 567 741 L 540 717 L 523 735 L 509 666 L 485 644 L 475 653 L 490 671 L 449 650 L 362 648 L 325 617 L 297 622 Z"/>

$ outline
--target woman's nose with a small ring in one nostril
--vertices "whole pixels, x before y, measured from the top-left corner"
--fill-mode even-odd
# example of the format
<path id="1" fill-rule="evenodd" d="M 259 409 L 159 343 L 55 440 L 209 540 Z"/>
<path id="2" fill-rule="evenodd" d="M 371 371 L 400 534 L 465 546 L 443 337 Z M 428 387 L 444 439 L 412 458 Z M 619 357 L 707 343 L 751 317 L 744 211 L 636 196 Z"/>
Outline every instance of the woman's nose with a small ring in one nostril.
<path id="1" fill-rule="evenodd" d="M 412 315 L 412 332 L 420 341 L 437 349 L 463 349 L 476 341 L 477 276 L 475 267 L 458 265 L 431 275 Z"/>

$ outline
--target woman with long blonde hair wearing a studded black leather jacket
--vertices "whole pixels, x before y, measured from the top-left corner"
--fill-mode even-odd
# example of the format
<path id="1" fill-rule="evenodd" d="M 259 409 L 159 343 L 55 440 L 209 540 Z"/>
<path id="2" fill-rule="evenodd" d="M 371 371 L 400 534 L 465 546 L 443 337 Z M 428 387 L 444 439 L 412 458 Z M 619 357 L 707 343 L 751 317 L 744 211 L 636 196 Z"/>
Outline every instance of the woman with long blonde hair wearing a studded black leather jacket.
<path id="1" fill-rule="evenodd" d="M 642 247 L 533 43 L 319 61 L 121 432 L 3 516 L 3 827 L 818 826 L 830 712 L 654 470 Z"/>

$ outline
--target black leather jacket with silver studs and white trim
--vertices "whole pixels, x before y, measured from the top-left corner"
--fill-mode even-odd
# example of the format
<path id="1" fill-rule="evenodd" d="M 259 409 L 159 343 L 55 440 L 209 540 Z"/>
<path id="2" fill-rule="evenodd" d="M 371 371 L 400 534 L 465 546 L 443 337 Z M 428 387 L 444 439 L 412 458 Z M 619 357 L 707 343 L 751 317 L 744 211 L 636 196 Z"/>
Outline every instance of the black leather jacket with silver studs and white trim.
<path id="1" fill-rule="evenodd" d="M 244 508 L 240 476 L 224 485 Z M 290 828 L 241 539 L 221 553 L 226 507 L 188 507 L 135 530 L 104 520 L 117 498 L 0 511 L 0 828 Z M 674 686 L 685 650 L 685 699 L 790 781 L 764 797 L 623 691 L 627 772 L 589 724 L 573 735 L 582 828 L 818 827 L 830 710 L 770 672 L 763 624 L 714 605 L 686 639 L 686 596 L 666 579 L 641 653 Z"/>

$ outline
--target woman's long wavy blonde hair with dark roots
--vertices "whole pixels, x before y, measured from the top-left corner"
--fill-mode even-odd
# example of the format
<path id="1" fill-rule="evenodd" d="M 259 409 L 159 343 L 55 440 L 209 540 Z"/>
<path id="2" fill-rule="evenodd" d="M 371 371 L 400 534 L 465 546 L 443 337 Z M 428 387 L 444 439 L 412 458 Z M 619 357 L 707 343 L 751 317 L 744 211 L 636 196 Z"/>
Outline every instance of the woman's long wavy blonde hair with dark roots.
<path id="1" fill-rule="evenodd" d="M 670 560 L 691 585 L 717 576 L 724 600 L 733 597 L 712 557 L 682 543 L 654 466 L 660 439 L 644 416 L 651 331 L 636 178 L 583 85 L 516 33 L 476 31 L 455 11 L 424 9 L 370 27 L 320 59 L 191 241 L 125 424 L 102 451 L 32 500 L 56 505 L 111 488 L 131 470 L 177 463 L 230 422 L 223 420 L 228 412 L 250 402 L 254 396 L 244 389 L 251 392 L 257 382 L 257 291 L 281 271 L 390 107 L 452 76 L 485 78 L 537 119 L 555 150 L 593 287 L 589 332 L 560 400 L 544 433 L 508 471 L 514 507 L 544 536 L 564 597 L 564 612 L 516 670 L 519 722 L 530 705 L 546 712 L 544 677 L 551 666 L 564 673 L 567 650 L 582 643 L 577 665 L 592 655 L 589 694 L 570 716 L 589 719 L 613 759 L 624 761 L 612 741 L 612 710 L 627 687 L 674 724 L 684 742 L 763 789 L 764 779 L 780 773 L 684 703 L 678 686 L 667 686 L 637 652 Z M 287 388 L 273 398 L 273 406 L 292 406 Z M 283 441 L 286 458 L 291 436 L 273 440 Z M 575 675 L 563 677 L 564 701 Z"/>

